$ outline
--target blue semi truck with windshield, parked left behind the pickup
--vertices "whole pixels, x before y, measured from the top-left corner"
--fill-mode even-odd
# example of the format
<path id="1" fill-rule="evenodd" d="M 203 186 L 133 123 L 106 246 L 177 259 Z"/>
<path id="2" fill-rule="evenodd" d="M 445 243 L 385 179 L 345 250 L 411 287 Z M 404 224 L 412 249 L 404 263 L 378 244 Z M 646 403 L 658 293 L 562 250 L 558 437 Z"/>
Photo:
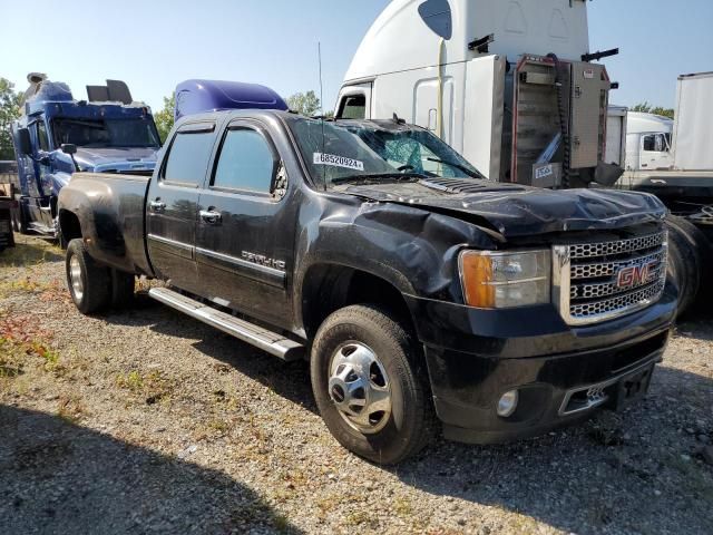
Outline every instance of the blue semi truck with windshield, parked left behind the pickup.
<path id="1" fill-rule="evenodd" d="M 57 197 L 71 174 L 150 175 L 160 139 L 150 108 L 135 103 L 123 81 L 87 86 L 86 100 L 42 74 L 28 81 L 22 115 L 12 124 L 19 230 L 61 240 Z"/>

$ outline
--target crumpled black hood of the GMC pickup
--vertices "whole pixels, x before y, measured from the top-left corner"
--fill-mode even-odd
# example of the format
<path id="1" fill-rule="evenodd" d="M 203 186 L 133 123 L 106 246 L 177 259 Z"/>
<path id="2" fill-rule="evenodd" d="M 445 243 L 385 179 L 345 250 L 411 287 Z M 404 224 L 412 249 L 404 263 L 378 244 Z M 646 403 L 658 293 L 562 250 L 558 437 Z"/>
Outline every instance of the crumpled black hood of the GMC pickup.
<path id="1" fill-rule="evenodd" d="M 665 217 L 653 195 L 612 189 L 539 189 L 488 181 L 426 178 L 351 185 L 343 193 L 486 223 L 505 237 L 611 230 Z"/>

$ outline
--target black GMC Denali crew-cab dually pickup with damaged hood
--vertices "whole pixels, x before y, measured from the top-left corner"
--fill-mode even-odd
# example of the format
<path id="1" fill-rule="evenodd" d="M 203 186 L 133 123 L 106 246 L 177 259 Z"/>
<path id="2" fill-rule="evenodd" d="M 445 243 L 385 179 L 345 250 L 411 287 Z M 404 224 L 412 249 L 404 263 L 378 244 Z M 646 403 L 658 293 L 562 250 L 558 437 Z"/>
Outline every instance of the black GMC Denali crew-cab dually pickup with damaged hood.
<path id="1" fill-rule="evenodd" d="M 540 434 L 643 396 L 676 308 L 646 194 L 478 179 L 394 121 L 217 111 L 152 177 L 74 175 L 68 286 L 92 313 L 150 296 L 309 359 L 334 437 L 377 463 L 447 438 Z"/>

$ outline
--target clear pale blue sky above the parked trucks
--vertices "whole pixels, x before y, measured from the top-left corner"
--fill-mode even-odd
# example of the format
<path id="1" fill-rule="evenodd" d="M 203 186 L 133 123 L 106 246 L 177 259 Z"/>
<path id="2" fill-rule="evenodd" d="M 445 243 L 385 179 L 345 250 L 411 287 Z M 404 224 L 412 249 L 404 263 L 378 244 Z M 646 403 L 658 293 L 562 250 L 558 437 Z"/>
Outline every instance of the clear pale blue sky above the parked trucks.
<path id="1" fill-rule="evenodd" d="M 289 96 L 319 88 L 322 41 L 324 100 L 331 108 L 359 42 L 388 3 L 33 0 L 29 11 L 23 2 L 0 0 L 0 77 L 25 90 L 27 72 L 47 72 L 80 98 L 88 84 L 123 79 L 154 109 L 187 78 L 265 84 Z M 673 107 L 680 74 L 713 70 L 713 1 L 588 6 L 592 49 L 622 48 L 619 57 L 605 60 L 622 84 L 613 103 Z"/>

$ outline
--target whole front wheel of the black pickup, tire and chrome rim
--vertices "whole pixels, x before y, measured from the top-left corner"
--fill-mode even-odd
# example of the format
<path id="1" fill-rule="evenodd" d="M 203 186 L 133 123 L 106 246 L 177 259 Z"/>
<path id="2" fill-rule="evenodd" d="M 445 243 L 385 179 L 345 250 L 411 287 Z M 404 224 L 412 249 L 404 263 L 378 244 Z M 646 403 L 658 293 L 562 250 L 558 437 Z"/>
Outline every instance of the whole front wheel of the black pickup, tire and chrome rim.
<path id="1" fill-rule="evenodd" d="M 392 465 L 430 440 L 436 426 L 427 371 L 390 314 L 355 305 L 330 315 L 314 339 L 311 376 L 328 428 L 354 454 Z"/>

